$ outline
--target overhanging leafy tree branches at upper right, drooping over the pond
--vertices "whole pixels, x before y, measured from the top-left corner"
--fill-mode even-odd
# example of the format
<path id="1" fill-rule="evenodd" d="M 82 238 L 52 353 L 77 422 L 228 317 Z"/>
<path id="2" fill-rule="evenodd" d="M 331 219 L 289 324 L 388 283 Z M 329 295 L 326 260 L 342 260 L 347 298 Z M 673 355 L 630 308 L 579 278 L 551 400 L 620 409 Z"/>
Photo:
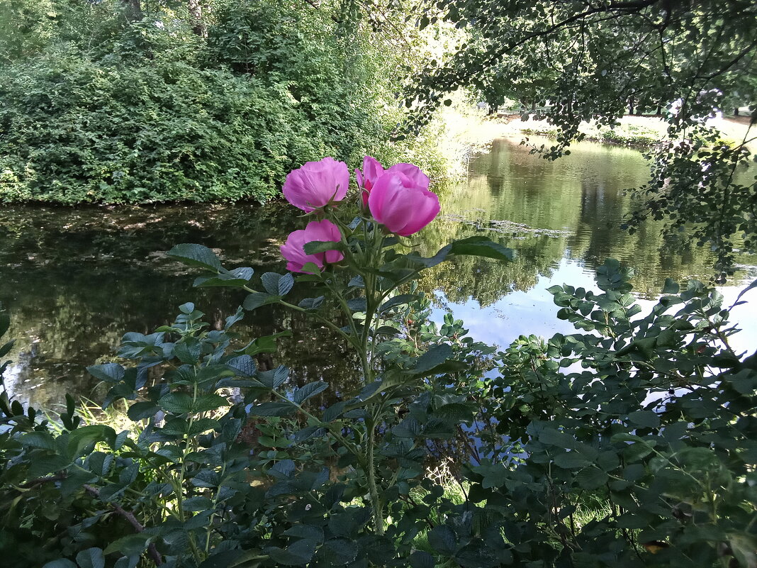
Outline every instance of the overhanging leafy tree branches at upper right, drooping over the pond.
<path id="1" fill-rule="evenodd" d="M 726 144 L 706 124 L 724 102 L 732 110 L 734 97 L 757 101 L 753 2 L 442 0 L 438 7 L 441 14 L 429 8 L 421 25 L 455 23 L 469 39 L 408 89 L 414 121 L 428 120 L 459 87 L 495 105 L 548 100 L 544 117 L 560 133 L 545 155 L 556 158 L 581 139 L 582 121 L 612 126 L 626 110 L 665 107 L 671 142 L 650 155 L 653 175 L 635 191 L 640 207 L 628 228 L 646 217 L 668 220 L 671 232 L 695 223 L 688 238 L 717 251 L 721 279 L 734 271 L 734 248 L 757 251 L 757 186 L 735 181 L 749 140 Z"/>

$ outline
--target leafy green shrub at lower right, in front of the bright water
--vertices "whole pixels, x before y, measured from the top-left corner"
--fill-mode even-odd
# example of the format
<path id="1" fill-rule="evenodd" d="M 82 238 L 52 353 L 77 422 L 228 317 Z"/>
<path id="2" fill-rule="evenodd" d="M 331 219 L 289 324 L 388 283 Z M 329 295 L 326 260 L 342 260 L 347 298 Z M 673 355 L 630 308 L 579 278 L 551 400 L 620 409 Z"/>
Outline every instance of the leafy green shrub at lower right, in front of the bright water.
<path id="1" fill-rule="evenodd" d="M 581 332 L 502 353 L 471 498 L 516 564 L 754 566 L 757 367 L 728 345 L 722 296 L 670 282 L 642 315 L 617 262 L 598 284 L 550 289 Z"/>

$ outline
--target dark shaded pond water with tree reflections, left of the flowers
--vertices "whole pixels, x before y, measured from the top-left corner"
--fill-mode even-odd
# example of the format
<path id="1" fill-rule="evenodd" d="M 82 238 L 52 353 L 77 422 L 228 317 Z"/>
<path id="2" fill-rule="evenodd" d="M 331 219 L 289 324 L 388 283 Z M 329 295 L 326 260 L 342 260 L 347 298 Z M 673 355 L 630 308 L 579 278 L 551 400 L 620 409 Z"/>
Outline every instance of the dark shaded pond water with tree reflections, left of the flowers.
<path id="1" fill-rule="evenodd" d="M 229 266 L 281 271 L 278 243 L 295 223 L 276 204 L 0 212 L 0 304 L 11 312 L 17 340 L 8 385 L 42 406 L 63 401 L 65 392 L 90 395 L 95 380 L 84 367 L 111 357 L 124 332 L 170 323 L 185 301 L 194 301 L 211 325 L 223 322 L 244 292 L 192 288 L 192 270 L 164 251 L 201 242 L 221 248 Z M 294 337 L 282 340 L 274 360 L 292 367 L 294 380 L 322 375 L 334 382 L 333 376 L 354 374 L 322 331 L 311 331 L 302 317 L 283 317 L 270 310 L 245 314 L 236 328 L 240 344 L 291 326 Z"/>

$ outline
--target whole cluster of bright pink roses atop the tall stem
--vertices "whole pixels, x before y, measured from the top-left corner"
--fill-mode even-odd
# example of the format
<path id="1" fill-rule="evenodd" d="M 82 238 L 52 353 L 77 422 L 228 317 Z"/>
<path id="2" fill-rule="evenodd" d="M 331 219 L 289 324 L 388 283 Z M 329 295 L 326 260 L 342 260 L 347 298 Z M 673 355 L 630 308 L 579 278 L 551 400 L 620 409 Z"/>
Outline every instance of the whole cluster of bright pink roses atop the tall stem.
<path id="1" fill-rule="evenodd" d="M 363 208 L 376 223 L 390 233 L 410 236 L 418 233 L 439 214 L 439 198 L 428 189 L 428 176 L 413 164 L 394 164 L 387 170 L 375 158 L 363 158 L 363 170 L 355 170 Z M 350 185 L 347 164 L 334 158 L 307 162 L 289 173 L 284 182 L 284 197 L 306 213 L 342 201 Z M 304 264 L 312 262 L 322 268 L 344 258 L 339 251 L 305 254 L 304 245 L 313 241 L 339 242 L 338 226 L 323 219 L 307 223 L 304 230 L 293 231 L 282 246 L 288 261 L 287 270 L 303 272 Z"/>

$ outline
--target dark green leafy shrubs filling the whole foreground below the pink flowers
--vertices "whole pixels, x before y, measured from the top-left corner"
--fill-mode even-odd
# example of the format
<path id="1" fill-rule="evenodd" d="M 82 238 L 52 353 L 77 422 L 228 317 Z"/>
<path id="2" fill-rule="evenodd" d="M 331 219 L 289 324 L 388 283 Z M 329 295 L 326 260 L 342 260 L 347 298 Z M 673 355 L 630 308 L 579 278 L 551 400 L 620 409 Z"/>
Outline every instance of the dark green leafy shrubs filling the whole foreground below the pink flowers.
<path id="1" fill-rule="evenodd" d="M 172 254 L 226 270 L 198 245 Z M 728 347 L 718 292 L 668 282 L 642 314 L 628 276 L 607 261 L 601 293 L 554 286 L 579 332 L 522 337 L 485 378 L 494 350 L 451 314 L 429 323 L 410 286 L 373 320 L 377 381 L 338 398 L 261 370 L 268 339 L 233 347 L 241 311 L 212 329 L 182 305 L 124 335 L 126 365 L 89 368 L 136 429 L 82 423 L 73 401 L 50 429 L 2 400 L 0 549 L 50 568 L 753 566 L 754 356 Z M 462 493 L 429 478 L 440 452 Z"/>

